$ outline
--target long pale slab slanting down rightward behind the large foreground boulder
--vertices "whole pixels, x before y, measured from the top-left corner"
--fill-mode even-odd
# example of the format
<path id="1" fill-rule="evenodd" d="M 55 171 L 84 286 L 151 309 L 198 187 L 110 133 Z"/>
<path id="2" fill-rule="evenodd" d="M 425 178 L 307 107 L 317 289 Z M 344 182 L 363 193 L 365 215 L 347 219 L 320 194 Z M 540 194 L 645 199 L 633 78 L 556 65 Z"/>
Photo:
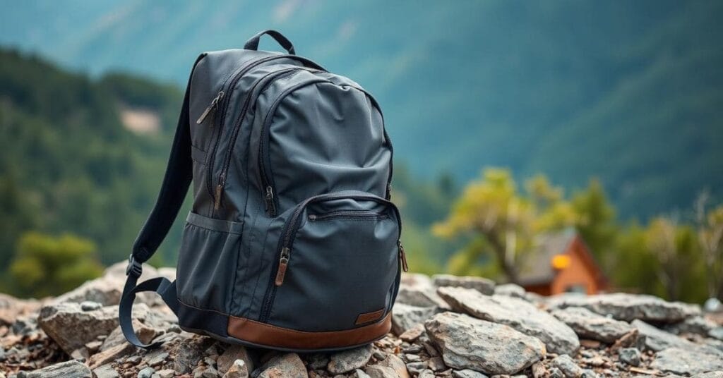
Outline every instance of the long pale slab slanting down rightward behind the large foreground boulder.
<path id="1" fill-rule="evenodd" d="M 485 296 L 466 288 L 439 288 L 437 293 L 458 311 L 539 338 L 552 353 L 575 354 L 580 348 L 580 340 L 570 327 L 520 298 Z"/>

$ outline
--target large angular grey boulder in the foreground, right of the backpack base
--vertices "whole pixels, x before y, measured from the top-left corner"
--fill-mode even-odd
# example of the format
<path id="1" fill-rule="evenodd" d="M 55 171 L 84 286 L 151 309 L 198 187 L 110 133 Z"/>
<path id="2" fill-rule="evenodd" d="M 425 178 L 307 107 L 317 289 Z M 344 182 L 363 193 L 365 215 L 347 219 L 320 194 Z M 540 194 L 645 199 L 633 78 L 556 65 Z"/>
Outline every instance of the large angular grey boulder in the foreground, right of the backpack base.
<path id="1" fill-rule="evenodd" d="M 424 327 L 440 349 L 445 364 L 454 369 L 514 374 L 546 353 L 544 343 L 534 337 L 464 314 L 437 314 Z"/>

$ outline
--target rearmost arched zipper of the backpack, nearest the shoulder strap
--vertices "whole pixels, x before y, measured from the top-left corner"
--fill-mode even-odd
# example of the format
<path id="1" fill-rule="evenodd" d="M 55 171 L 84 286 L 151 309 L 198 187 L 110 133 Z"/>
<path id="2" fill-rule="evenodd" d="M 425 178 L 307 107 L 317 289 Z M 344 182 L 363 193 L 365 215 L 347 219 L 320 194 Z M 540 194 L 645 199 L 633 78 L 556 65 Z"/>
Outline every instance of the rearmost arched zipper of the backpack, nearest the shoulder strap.
<path id="1" fill-rule="evenodd" d="M 218 100 L 216 100 L 216 103 L 213 104 L 213 100 L 211 100 L 211 103 L 209 104 L 208 112 L 210 113 L 213 111 L 214 114 L 214 121 L 218 119 L 218 117 L 215 117 L 215 115 L 218 113 L 218 111 L 223 110 L 221 112 L 221 119 L 218 122 L 218 132 L 216 134 L 215 142 L 213 144 L 213 148 L 210 151 L 210 158 L 208 159 L 208 174 L 206 175 L 206 189 L 208 191 L 208 195 L 211 197 L 211 199 L 214 202 L 214 208 L 217 206 L 216 204 L 220 204 L 221 199 L 218 199 L 218 196 L 214 195 L 213 190 L 211 189 L 213 186 L 213 182 L 211 177 L 213 176 L 213 163 L 214 163 L 214 156 L 216 154 L 216 150 L 218 150 L 218 144 L 221 142 L 221 134 L 223 132 L 223 122 L 226 120 L 226 111 L 228 110 L 228 103 L 231 100 L 231 97 L 233 97 L 233 90 L 236 87 L 236 83 L 241 80 L 241 77 L 244 76 L 247 72 L 249 72 L 254 67 L 258 66 L 259 64 L 273 61 L 275 59 L 294 59 L 296 61 L 301 61 L 303 64 L 307 64 L 309 66 L 313 66 L 314 68 L 320 69 L 322 71 L 325 71 L 325 69 L 322 68 L 322 66 L 319 66 L 318 64 L 314 63 L 313 61 L 310 61 L 309 59 L 302 58 L 301 56 L 291 55 L 291 54 L 283 54 L 283 55 L 273 55 L 273 56 L 266 56 L 264 58 L 256 59 L 249 64 L 245 66 L 239 67 L 239 69 L 234 72 L 234 74 L 231 74 L 226 79 L 226 82 L 223 83 L 223 87 L 221 87 L 221 92 L 224 93 L 224 95 L 221 96 Z M 224 90 L 225 89 L 225 90 Z M 217 96 L 218 97 L 218 96 Z M 215 98 L 214 98 L 215 100 Z M 221 101 L 221 106 L 219 106 L 219 102 Z M 204 112 L 205 113 L 205 112 Z M 208 114 L 206 114 L 208 116 Z M 204 117 L 205 119 L 205 117 Z M 202 120 L 203 121 L 203 120 Z M 222 188 L 223 189 L 223 188 Z M 216 186 L 216 192 L 218 192 L 218 185 Z"/>

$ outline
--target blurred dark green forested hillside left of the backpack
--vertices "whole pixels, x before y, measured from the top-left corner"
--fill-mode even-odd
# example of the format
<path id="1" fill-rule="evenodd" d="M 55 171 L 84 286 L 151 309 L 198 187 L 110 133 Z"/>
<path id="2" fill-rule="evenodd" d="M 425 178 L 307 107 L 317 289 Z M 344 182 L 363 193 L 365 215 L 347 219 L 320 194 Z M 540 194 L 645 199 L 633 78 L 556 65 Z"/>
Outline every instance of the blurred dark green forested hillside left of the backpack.
<path id="1" fill-rule="evenodd" d="M 180 101 L 172 85 L 90 79 L 0 50 L 0 266 L 25 231 L 90 239 L 103 263 L 127 257 L 158 194 Z M 129 109 L 157 114 L 161 129 L 129 132 Z"/>

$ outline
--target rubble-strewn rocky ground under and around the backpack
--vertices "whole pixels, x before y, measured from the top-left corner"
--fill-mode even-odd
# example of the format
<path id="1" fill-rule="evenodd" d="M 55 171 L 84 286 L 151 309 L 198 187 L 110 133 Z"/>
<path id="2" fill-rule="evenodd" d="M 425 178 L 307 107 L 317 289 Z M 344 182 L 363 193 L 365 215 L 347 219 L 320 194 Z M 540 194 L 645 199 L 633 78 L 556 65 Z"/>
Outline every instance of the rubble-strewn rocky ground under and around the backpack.
<path id="1" fill-rule="evenodd" d="M 0 295 L 2 377 L 723 378 L 723 317 L 651 296 L 542 298 L 484 278 L 406 275 L 393 332 L 341 353 L 278 353 L 182 331 L 153 295 L 136 301 L 144 351 L 117 314 L 123 263 L 57 298 Z M 174 278 L 145 268 L 142 279 Z"/>

